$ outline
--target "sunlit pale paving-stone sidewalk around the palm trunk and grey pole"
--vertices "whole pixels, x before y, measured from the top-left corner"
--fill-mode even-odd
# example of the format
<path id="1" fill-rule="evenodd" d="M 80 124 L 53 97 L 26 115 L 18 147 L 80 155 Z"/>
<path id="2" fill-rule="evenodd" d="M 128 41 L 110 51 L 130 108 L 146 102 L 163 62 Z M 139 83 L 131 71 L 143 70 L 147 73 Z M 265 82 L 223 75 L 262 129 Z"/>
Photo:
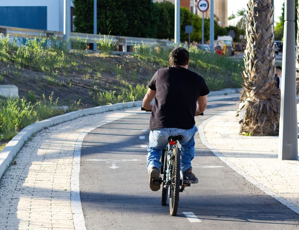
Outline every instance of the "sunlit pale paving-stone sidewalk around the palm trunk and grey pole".
<path id="1" fill-rule="evenodd" d="M 278 160 L 278 136 L 239 135 L 236 111 L 210 119 L 204 132 L 208 144 L 237 168 L 299 208 L 299 161 Z"/>

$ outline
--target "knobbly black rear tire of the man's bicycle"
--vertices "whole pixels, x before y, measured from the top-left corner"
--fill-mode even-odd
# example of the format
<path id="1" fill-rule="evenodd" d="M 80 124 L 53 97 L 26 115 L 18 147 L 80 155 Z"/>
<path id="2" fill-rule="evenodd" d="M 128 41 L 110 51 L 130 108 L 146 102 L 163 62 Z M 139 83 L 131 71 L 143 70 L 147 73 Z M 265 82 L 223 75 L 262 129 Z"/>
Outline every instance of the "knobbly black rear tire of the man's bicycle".
<path id="1" fill-rule="evenodd" d="M 169 186 L 169 212 L 171 216 L 176 216 L 179 206 L 180 170 L 180 150 L 178 147 L 174 147 L 170 165 L 171 184 Z"/>

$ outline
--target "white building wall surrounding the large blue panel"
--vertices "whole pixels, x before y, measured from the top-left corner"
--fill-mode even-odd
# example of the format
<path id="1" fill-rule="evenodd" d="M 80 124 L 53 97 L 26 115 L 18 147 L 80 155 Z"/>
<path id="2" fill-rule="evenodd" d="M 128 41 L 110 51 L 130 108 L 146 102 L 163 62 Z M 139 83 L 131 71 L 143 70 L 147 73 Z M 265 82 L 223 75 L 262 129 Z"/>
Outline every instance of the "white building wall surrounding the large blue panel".
<path id="1" fill-rule="evenodd" d="M 46 6 L 47 30 L 63 32 L 63 2 L 69 0 L 0 0 L 0 6 Z M 71 7 L 74 7 L 71 0 Z"/>

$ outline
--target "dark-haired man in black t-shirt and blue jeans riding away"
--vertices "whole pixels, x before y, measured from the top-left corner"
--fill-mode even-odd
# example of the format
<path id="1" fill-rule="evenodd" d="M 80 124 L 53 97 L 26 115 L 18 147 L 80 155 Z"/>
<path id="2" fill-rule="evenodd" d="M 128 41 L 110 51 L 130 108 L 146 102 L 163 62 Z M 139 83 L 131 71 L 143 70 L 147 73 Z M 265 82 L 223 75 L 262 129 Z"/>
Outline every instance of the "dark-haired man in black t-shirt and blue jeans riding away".
<path id="1" fill-rule="evenodd" d="M 203 77 L 187 70 L 189 52 L 184 47 L 174 48 L 169 54 L 169 62 L 171 67 L 159 69 L 150 80 L 142 103 L 143 108 L 152 110 L 147 148 L 147 170 L 152 191 L 158 191 L 161 187 L 160 184 L 153 184 L 152 179 L 160 177 L 160 158 L 170 136 L 183 136 L 179 142 L 184 183 L 198 183 L 191 167 L 194 135 L 198 131 L 194 116 L 205 111 L 210 92 Z M 155 103 L 151 105 L 154 97 Z"/>

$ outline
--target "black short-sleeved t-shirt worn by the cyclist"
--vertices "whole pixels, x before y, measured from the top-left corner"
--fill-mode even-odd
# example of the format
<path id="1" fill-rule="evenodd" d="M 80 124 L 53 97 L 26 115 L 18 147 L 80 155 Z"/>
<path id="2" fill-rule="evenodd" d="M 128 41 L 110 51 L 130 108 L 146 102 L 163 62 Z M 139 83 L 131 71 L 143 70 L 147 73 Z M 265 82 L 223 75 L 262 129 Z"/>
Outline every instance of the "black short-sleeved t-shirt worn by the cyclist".
<path id="1" fill-rule="evenodd" d="M 190 129 L 195 124 L 196 102 L 210 91 L 203 77 L 183 67 L 159 69 L 148 87 L 155 90 L 149 129 Z"/>

